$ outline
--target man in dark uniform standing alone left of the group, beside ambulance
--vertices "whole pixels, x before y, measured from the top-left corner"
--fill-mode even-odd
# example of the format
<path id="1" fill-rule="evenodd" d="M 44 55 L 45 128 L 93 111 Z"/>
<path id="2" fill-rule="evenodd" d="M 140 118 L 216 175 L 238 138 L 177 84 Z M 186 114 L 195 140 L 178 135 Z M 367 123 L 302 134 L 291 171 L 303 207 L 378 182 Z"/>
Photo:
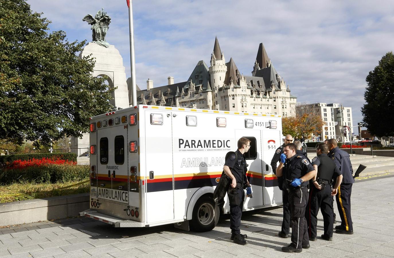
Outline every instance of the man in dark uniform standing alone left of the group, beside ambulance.
<path id="1" fill-rule="evenodd" d="M 236 205 L 233 201 L 230 200 L 230 229 L 231 229 L 231 240 L 234 240 L 234 243 L 239 245 L 246 245 L 247 238 L 246 235 L 241 234 L 240 225 L 241 225 L 241 215 L 242 215 L 242 207 L 243 207 L 243 199 L 245 197 L 245 191 L 243 190 L 243 185 L 246 184 L 249 186 L 249 181 L 246 177 L 246 161 L 243 157 L 243 154 L 247 152 L 250 148 L 250 141 L 244 137 L 238 140 L 238 150 L 230 154 L 225 161 L 223 171 L 230 178 L 231 184 L 230 189 L 227 192 L 229 195 L 229 200 L 235 197 Z M 231 198 L 230 198 L 231 195 Z"/>

